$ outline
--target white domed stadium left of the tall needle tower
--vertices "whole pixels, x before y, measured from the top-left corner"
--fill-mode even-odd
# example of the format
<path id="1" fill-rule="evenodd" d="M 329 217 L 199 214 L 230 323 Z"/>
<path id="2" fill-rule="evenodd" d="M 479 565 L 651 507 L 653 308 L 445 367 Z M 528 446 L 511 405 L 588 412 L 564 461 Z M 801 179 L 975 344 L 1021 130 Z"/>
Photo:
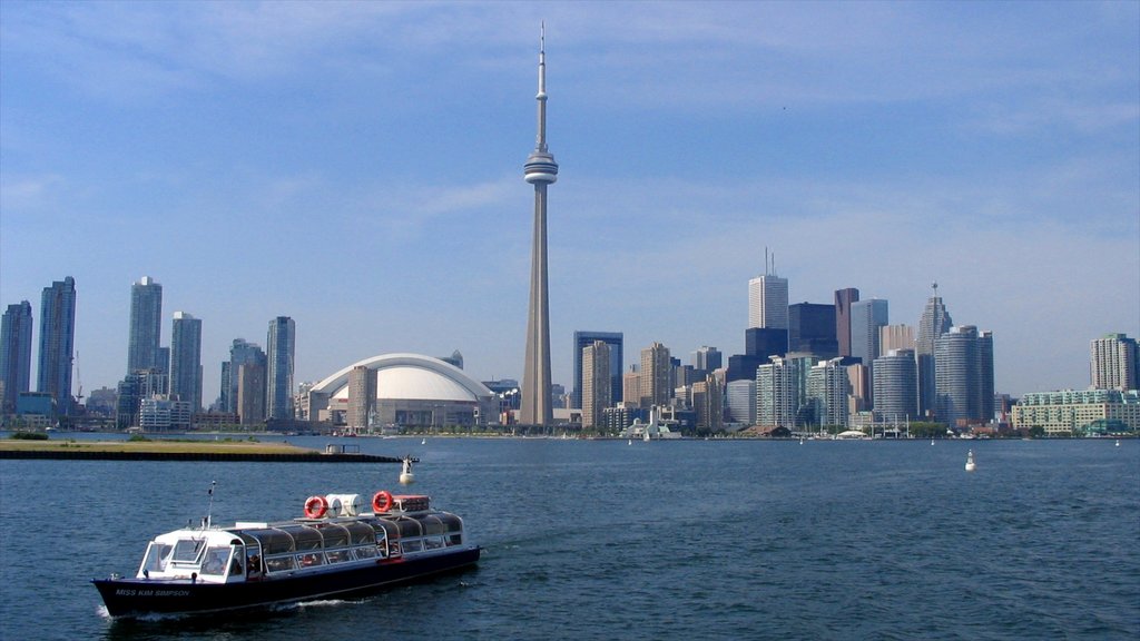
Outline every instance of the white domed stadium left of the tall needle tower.
<path id="1" fill-rule="evenodd" d="M 369 397 L 373 403 L 364 403 Z M 309 412 L 353 429 L 480 425 L 498 422 L 498 399 L 487 386 L 439 358 L 384 354 L 310 388 Z"/>

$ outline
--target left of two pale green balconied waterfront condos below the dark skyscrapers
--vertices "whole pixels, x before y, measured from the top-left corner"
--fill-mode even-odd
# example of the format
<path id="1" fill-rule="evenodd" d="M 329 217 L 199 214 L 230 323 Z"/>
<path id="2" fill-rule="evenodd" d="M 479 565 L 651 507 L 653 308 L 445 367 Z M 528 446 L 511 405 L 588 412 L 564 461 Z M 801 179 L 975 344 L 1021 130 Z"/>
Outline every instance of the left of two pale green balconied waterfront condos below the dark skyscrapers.
<path id="1" fill-rule="evenodd" d="M 768 428 L 795 429 L 811 422 L 807 375 L 812 358 L 789 354 L 773 356 L 756 370 L 756 423 Z"/>

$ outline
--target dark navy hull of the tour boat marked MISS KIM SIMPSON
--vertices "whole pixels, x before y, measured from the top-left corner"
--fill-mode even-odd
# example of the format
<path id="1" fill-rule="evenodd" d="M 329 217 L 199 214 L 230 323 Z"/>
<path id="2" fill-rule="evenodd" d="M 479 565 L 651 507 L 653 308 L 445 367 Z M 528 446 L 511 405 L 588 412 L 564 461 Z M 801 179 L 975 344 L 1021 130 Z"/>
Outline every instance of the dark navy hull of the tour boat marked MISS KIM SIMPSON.
<path id="1" fill-rule="evenodd" d="M 384 559 L 321 573 L 296 573 L 247 583 L 203 583 L 188 579 L 96 578 L 107 611 L 114 617 L 204 614 L 320 598 L 343 598 L 384 586 L 456 570 L 479 560 L 478 546 L 439 554 Z"/>

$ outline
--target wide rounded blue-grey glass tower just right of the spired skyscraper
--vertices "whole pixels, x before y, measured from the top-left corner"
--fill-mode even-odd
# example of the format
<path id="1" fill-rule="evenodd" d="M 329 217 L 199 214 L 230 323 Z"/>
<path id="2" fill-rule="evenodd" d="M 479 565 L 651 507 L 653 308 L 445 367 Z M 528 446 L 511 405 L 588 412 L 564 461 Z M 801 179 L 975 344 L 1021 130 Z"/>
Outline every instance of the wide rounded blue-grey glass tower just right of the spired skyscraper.
<path id="1" fill-rule="evenodd" d="M 935 343 L 938 420 L 950 427 L 993 420 L 993 334 L 955 325 Z"/>

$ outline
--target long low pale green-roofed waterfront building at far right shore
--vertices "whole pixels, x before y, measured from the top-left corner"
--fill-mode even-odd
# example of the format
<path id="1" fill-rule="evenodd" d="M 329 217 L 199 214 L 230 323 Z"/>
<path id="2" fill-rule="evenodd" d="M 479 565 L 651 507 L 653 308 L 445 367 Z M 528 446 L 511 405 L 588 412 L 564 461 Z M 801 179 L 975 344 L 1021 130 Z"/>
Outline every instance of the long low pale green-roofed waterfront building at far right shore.
<path id="1" fill-rule="evenodd" d="M 1140 431 L 1140 392 L 1109 389 L 1031 392 L 1012 408 L 1013 428 L 1048 436 L 1099 436 Z"/>

